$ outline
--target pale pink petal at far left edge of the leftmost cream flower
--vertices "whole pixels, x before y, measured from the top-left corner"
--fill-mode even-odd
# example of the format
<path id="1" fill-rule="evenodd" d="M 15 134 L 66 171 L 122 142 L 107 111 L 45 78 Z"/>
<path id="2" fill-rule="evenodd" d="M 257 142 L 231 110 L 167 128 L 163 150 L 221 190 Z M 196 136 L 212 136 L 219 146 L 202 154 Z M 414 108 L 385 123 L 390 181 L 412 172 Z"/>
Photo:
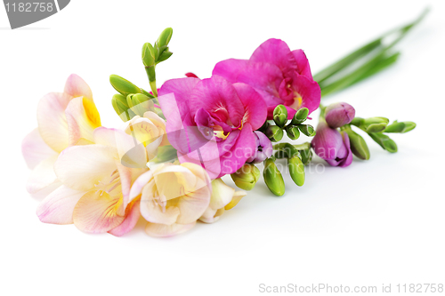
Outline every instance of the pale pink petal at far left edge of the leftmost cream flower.
<path id="1" fill-rule="evenodd" d="M 29 132 L 25 139 L 21 142 L 21 153 L 25 158 L 28 168 L 31 170 L 40 164 L 44 159 L 50 156 L 56 156 L 57 153 L 50 148 L 40 137 L 38 129 Z"/>

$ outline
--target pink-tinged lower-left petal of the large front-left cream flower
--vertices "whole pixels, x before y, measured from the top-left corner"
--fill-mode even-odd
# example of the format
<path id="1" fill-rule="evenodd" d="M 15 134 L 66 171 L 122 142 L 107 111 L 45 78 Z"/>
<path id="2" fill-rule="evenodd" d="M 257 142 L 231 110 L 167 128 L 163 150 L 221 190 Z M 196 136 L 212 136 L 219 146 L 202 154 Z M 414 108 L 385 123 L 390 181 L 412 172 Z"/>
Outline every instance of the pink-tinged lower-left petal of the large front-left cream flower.
<path id="1" fill-rule="evenodd" d="M 44 223 L 71 224 L 73 211 L 85 191 L 79 191 L 62 185 L 55 189 L 37 207 L 38 219 Z"/>

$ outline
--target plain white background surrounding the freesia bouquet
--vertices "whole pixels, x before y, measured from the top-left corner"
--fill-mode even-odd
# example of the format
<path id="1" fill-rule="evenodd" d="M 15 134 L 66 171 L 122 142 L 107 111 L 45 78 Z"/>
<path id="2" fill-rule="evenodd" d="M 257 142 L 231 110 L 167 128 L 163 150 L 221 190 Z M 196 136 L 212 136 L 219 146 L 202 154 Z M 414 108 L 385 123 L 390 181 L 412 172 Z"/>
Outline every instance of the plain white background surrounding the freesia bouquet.
<path id="1" fill-rule="evenodd" d="M 121 124 L 110 74 L 149 88 L 141 48 L 173 27 L 173 57 L 158 82 L 247 59 L 270 37 L 302 48 L 316 73 L 386 30 L 431 13 L 399 46 L 395 67 L 326 99 L 357 116 L 412 120 L 389 154 L 287 178 L 285 196 L 263 181 L 212 225 L 155 239 L 141 220 L 124 237 L 41 223 L 28 195 L 20 141 L 36 127 L 37 101 L 77 73 L 93 89 L 104 126 Z M 87 1 L 10 30 L 0 7 L 0 294 L 256 295 L 259 284 L 445 284 L 443 193 L 444 28 L 441 1 Z M 316 116 L 315 116 L 316 117 Z M 314 123 L 315 124 L 315 123 Z M 303 141 L 303 140 L 301 140 Z M 322 164 L 315 159 L 315 164 Z"/>

